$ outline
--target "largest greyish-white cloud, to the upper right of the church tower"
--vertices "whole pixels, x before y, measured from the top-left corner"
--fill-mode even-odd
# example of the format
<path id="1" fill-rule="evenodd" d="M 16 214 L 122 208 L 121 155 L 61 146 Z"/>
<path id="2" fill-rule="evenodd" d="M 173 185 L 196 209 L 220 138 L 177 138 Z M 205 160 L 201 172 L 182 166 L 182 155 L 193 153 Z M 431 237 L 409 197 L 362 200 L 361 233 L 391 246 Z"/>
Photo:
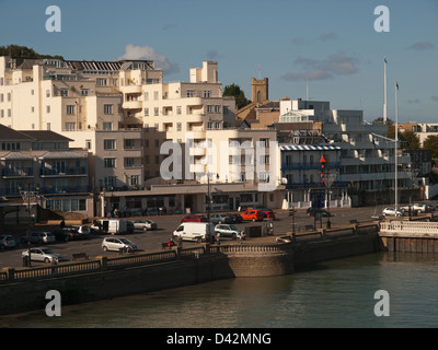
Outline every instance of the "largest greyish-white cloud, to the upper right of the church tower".
<path id="1" fill-rule="evenodd" d="M 286 72 L 284 80 L 325 80 L 336 75 L 354 74 L 358 71 L 358 59 L 338 51 L 326 59 L 299 57 L 295 63 L 303 68 L 303 72 Z"/>

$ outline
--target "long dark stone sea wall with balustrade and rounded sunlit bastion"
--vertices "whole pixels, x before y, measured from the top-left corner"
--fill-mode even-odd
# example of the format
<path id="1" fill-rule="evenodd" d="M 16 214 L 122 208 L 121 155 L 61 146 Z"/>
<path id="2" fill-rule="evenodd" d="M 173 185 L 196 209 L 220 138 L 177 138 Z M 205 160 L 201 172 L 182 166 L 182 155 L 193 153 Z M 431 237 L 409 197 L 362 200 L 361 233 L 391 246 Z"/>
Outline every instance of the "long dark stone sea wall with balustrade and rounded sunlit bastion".
<path id="1" fill-rule="evenodd" d="M 191 254 L 166 253 L 169 257 L 157 261 L 148 256 L 148 264 L 140 262 L 146 261 L 142 256 L 126 260 L 101 257 L 87 262 L 89 267 L 81 273 L 62 272 L 59 265 L 59 270 L 41 269 L 41 278 L 19 279 L 18 271 L 10 269 L 0 279 L 0 314 L 45 308 L 49 290 L 59 291 L 62 305 L 68 305 L 218 279 L 288 275 L 310 264 L 379 249 L 376 232 L 306 243 L 206 246 Z"/>

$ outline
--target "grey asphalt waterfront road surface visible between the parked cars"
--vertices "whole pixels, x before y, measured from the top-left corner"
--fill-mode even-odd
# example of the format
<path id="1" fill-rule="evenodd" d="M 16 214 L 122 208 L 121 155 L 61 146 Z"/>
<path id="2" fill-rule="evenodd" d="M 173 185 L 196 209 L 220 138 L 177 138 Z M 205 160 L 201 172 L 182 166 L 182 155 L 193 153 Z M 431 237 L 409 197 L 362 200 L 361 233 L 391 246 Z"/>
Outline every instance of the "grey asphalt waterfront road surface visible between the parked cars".
<path id="1" fill-rule="evenodd" d="M 380 214 L 384 206 L 378 207 L 362 207 L 362 208 L 348 208 L 348 209 L 333 209 L 331 210 L 333 217 L 331 219 L 332 228 L 348 225 L 350 220 L 357 220 L 358 222 L 371 222 L 372 217 Z M 161 244 L 168 242 L 172 236 L 172 232 L 178 226 L 183 215 L 164 215 L 164 217 L 149 217 L 158 224 L 158 230 L 154 231 L 135 231 L 129 234 L 123 235 L 129 241 L 135 243 L 140 252 L 139 253 L 151 253 L 161 250 Z M 129 220 L 135 220 L 138 218 L 127 218 Z M 327 218 L 322 218 L 323 226 L 326 226 Z M 308 217 L 306 210 L 298 210 L 295 215 L 296 232 L 297 234 L 306 232 L 306 225 L 313 225 L 314 218 Z M 261 225 L 260 222 L 243 222 L 235 224 L 238 229 L 244 230 L 249 225 Z M 274 221 L 274 235 L 283 235 L 291 232 L 292 218 L 289 217 L 288 211 L 276 211 L 276 220 Z M 316 222 L 316 229 L 320 228 L 320 222 Z M 34 230 L 41 231 L 54 231 L 58 226 L 47 226 L 47 225 L 35 225 Z M 28 246 L 36 247 L 37 245 L 20 244 L 20 230 L 5 230 L 5 234 L 11 234 L 14 236 L 16 246 L 12 249 L 0 250 L 0 269 L 4 267 L 22 268 L 23 261 L 21 253 L 27 249 Z M 24 232 L 24 230 L 22 230 Z M 62 255 L 66 261 L 71 261 L 72 254 L 85 253 L 90 258 L 99 255 L 105 255 L 108 257 L 118 256 L 117 252 L 106 252 L 102 250 L 102 241 L 105 235 L 90 235 L 89 238 L 80 241 L 70 242 L 55 242 L 46 247 L 50 248 L 54 253 Z M 223 241 L 222 241 L 223 240 Z M 230 238 L 221 238 L 222 244 Z M 257 238 L 247 237 L 245 243 L 256 243 Z M 266 240 L 265 240 L 266 241 Z M 230 241 L 231 242 L 231 241 Z M 272 238 L 275 243 L 275 237 Z M 184 242 L 183 246 L 188 247 L 194 245 L 194 243 Z M 137 254 L 139 254 L 137 253 Z M 61 262 L 60 262 L 61 264 Z M 44 262 L 32 261 L 33 267 L 47 266 Z"/>

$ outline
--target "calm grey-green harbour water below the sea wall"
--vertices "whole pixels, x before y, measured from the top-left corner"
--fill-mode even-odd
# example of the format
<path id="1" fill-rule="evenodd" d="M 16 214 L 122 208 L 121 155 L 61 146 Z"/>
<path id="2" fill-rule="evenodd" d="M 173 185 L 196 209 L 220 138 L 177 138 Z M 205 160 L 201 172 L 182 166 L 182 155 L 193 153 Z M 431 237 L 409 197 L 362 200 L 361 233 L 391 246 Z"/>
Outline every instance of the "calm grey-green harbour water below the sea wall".
<path id="1" fill-rule="evenodd" d="M 378 290 L 389 316 L 376 316 Z M 377 253 L 290 276 L 239 278 L 0 317 L 0 327 L 290 328 L 438 326 L 438 255 Z"/>

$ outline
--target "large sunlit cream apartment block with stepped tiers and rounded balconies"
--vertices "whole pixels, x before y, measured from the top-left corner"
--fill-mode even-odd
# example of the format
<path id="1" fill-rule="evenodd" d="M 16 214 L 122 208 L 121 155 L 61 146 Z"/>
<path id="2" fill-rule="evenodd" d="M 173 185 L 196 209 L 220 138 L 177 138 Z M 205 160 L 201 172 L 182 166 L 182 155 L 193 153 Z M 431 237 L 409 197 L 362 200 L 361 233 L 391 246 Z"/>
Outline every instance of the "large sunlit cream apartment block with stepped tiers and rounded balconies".
<path id="1" fill-rule="evenodd" d="M 212 197 L 218 210 L 241 205 L 277 207 L 283 201 L 279 192 L 257 195 L 258 184 L 280 184 L 279 174 L 267 175 L 274 158 L 269 149 L 255 154 L 257 142 L 267 145 L 275 141 L 275 132 L 234 130 L 234 98 L 222 95 L 214 61 L 191 69 L 188 82 L 165 83 L 162 71 L 149 60 L 0 57 L 0 124 L 54 130 L 70 138 L 72 147 L 88 150 L 92 154 L 90 182 L 101 192 L 100 214 L 115 207 L 205 210 L 207 174 L 216 188 L 228 188 L 220 198 Z M 160 151 L 165 141 L 184 150 L 178 159 L 183 178 L 170 182 L 161 176 L 168 155 Z M 208 160 L 214 156 L 205 145 L 215 144 L 220 151 L 223 143 L 231 144 L 230 150 L 222 163 L 217 156 L 210 166 Z M 249 171 L 246 163 L 253 168 Z M 255 164 L 260 164 L 257 170 Z M 191 185 L 187 192 L 183 184 Z"/>

